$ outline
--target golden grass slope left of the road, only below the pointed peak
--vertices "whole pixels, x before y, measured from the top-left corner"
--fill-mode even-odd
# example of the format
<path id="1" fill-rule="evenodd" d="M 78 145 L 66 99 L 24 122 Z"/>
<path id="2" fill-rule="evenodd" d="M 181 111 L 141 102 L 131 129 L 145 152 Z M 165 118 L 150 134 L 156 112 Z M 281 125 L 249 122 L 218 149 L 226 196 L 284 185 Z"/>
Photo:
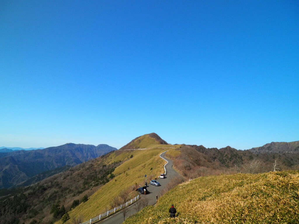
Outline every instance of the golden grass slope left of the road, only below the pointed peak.
<path id="1" fill-rule="evenodd" d="M 103 210 L 111 209 L 110 204 L 120 191 L 135 183 L 144 182 L 144 174 L 158 176 L 164 171 L 163 165 L 165 163 L 165 160 L 161 159 L 159 155 L 165 150 L 167 149 L 150 148 L 144 150 L 114 151 L 109 156 L 106 164 L 119 160 L 125 161 L 113 172 L 115 178 L 91 195 L 87 202 L 81 203 L 76 208 L 68 211 L 71 219 L 79 215 L 84 217 L 84 221 L 96 217 Z M 133 155 L 132 158 L 130 158 L 131 155 Z M 66 223 L 71 223 L 71 219 Z M 61 221 L 56 223 L 61 223 Z"/>

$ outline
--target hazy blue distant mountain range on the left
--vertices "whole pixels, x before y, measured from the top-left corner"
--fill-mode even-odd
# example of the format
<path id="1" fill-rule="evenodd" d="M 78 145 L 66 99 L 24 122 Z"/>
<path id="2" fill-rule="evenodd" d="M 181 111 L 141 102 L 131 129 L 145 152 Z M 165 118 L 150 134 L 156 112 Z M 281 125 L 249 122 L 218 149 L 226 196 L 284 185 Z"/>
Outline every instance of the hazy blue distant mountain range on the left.
<path id="1" fill-rule="evenodd" d="M 0 153 L 0 188 L 12 187 L 44 171 L 74 166 L 113 150 L 116 148 L 105 144 L 68 143 L 45 149 Z"/>

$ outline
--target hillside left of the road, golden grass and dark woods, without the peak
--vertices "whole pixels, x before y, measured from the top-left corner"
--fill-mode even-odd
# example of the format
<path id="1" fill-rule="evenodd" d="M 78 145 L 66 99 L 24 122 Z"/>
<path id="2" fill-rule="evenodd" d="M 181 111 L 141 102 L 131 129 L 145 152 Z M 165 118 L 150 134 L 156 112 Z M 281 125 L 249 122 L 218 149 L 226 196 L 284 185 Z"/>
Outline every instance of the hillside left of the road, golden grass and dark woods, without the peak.
<path id="1" fill-rule="evenodd" d="M 28 187 L 0 189 L 0 224 L 18 221 L 29 224 L 33 220 L 50 224 L 57 221 L 63 211 L 68 211 L 71 218 L 79 215 L 84 219 L 94 217 L 106 208 L 110 209 L 122 190 L 144 182 L 144 174 L 149 178 L 158 176 L 165 163 L 159 154 L 165 150 L 116 150 Z M 35 182 L 39 175 L 30 181 Z M 85 195 L 88 200 L 82 202 Z"/>

